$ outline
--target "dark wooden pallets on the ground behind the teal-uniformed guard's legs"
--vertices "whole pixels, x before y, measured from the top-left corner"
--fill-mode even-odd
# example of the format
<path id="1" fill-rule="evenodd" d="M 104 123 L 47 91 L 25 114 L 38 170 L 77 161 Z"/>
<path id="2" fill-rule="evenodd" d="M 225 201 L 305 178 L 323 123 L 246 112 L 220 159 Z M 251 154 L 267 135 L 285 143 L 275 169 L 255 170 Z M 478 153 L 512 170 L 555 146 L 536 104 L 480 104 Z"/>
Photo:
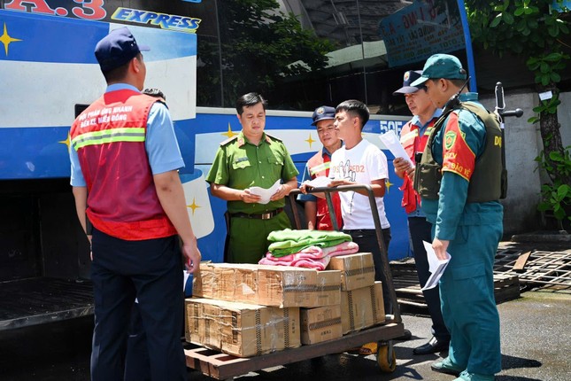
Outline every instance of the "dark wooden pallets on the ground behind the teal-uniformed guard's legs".
<path id="1" fill-rule="evenodd" d="M 428 308 L 421 292 L 416 271 L 404 269 L 393 271 L 393 284 L 400 305 Z M 520 280 L 516 275 L 494 274 L 496 304 L 520 297 Z"/>

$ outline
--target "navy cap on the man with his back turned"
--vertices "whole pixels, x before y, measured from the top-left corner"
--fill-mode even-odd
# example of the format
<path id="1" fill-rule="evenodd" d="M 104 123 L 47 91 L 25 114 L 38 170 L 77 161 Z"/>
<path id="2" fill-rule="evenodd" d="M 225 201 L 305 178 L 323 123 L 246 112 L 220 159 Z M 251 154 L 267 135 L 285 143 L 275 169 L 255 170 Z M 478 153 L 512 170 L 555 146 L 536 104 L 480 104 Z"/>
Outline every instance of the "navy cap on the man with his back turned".
<path id="1" fill-rule="evenodd" d="M 102 72 L 108 72 L 127 64 L 141 51 L 150 51 L 148 46 L 138 45 L 127 27 L 112 30 L 96 44 L 96 58 Z"/>

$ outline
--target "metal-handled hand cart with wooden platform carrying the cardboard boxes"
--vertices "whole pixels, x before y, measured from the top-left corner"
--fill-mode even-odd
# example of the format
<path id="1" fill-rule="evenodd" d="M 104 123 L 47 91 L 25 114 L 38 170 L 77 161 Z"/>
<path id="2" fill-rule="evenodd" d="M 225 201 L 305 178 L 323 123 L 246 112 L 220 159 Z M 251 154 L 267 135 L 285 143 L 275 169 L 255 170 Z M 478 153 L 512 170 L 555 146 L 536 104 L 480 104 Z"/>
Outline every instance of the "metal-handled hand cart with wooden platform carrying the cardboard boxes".
<path id="1" fill-rule="evenodd" d="M 371 205 L 376 237 L 381 249 L 382 269 L 385 279 L 388 283 L 389 298 L 393 306 L 393 315 L 386 315 L 385 322 L 382 325 L 376 325 L 371 328 L 352 332 L 343 335 L 342 338 L 336 338 L 325 342 L 312 344 L 308 346 L 299 346 L 297 348 L 285 349 L 272 354 L 263 354 L 255 357 L 235 357 L 231 354 L 222 354 L 202 346 L 190 345 L 185 349 L 187 367 L 197 369 L 204 375 L 215 379 L 232 379 L 236 376 L 247 374 L 251 371 L 266 369 L 278 365 L 285 365 L 291 362 L 300 362 L 313 359 L 326 354 L 343 353 L 356 346 L 362 346 L 370 342 L 378 342 L 376 361 L 379 369 L 384 373 L 390 373 L 397 366 L 397 356 L 393 347 L 392 340 L 402 337 L 405 333 L 405 326 L 402 323 L 400 309 L 397 302 L 397 292 L 395 291 L 390 273 L 389 257 L 382 239 L 382 228 L 379 220 L 379 213 L 376 208 L 373 190 L 369 185 L 342 185 L 336 188 L 313 188 L 309 193 L 325 193 L 329 206 L 329 214 L 335 229 L 336 226 L 335 212 L 331 201 L 330 193 L 333 191 L 359 191 L 367 190 L 369 202 Z M 293 211 L 293 219 L 297 229 L 301 229 L 299 216 L 297 215 L 296 197 L 300 193 L 298 190 L 289 193 L 289 203 Z"/>

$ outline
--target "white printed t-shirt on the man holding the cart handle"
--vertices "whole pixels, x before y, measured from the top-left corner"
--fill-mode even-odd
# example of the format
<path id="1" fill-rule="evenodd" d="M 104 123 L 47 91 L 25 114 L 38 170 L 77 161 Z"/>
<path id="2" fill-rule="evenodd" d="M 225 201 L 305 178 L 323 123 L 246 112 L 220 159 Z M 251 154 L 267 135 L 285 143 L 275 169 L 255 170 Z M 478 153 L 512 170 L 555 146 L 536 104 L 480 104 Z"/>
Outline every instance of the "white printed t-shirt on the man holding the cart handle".
<path id="1" fill-rule="evenodd" d="M 387 157 L 382 151 L 363 139 L 347 150 L 345 146 L 333 152 L 329 178 L 349 180 L 355 183 L 371 184 L 374 180 L 388 179 Z M 374 229 L 373 214 L 369 198 L 355 191 L 340 191 L 343 229 Z M 379 211 L 381 228 L 390 228 L 384 212 L 382 197 L 374 198 Z"/>

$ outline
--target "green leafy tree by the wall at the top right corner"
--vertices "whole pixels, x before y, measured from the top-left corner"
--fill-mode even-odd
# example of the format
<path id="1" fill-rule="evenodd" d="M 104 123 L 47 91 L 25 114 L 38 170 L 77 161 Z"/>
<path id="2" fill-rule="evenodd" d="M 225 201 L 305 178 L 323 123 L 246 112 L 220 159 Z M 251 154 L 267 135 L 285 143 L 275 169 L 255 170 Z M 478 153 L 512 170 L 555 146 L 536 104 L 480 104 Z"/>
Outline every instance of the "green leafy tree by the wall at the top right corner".
<path id="1" fill-rule="evenodd" d="M 552 9 L 559 4 L 559 11 Z M 535 75 L 536 91 L 551 91 L 552 97 L 534 108 L 538 114 L 529 119 L 539 122 L 544 151 L 536 158 L 551 179 L 542 187 L 540 210 L 552 210 L 560 221 L 569 218 L 571 170 L 569 147 L 564 148 L 557 117 L 558 83 L 569 62 L 562 36 L 569 34 L 570 12 L 561 0 L 465 0 L 470 32 L 500 58 L 512 53 L 526 60 Z"/>

